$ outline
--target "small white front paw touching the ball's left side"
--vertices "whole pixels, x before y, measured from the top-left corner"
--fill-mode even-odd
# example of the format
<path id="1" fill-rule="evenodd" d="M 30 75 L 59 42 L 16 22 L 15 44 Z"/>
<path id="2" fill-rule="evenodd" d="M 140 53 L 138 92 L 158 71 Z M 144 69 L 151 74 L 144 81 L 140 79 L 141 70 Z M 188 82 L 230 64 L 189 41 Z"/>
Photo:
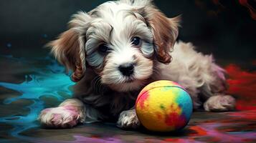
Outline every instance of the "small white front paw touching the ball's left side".
<path id="1" fill-rule="evenodd" d="M 117 126 L 122 129 L 136 129 L 141 123 L 138 120 L 135 109 L 123 111 L 119 115 Z"/>

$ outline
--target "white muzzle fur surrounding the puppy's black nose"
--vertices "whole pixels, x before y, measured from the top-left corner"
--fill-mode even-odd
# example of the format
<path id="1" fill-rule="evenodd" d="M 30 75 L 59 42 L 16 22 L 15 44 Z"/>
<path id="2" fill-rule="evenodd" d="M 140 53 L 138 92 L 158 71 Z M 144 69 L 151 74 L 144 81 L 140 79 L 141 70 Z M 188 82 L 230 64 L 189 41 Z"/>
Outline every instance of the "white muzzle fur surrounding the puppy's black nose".
<path id="1" fill-rule="evenodd" d="M 137 49 L 132 49 L 130 46 L 108 56 L 110 57 L 103 69 L 101 81 L 117 91 L 127 92 L 139 89 L 144 84 L 143 79 L 147 79 L 153 73 L 153 62 L 141 56 Z M 118 70 L 118 66 L 125 63 L 135 64 L 133 78 L 136 80 L 133 82 L 127 82 L 128 77 L 124 77 Z"/>

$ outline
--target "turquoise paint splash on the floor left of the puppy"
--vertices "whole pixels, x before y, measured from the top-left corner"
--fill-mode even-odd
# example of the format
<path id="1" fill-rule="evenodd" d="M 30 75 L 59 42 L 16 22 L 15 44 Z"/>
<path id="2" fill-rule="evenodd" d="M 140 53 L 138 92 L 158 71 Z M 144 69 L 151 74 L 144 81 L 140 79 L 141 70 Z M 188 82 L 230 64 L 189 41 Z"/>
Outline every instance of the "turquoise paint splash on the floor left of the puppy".
<path id="1" fill-rule="evenodd" d="M 26 63 L 24 59 L 15 59 L 10 56 L 11 59 L 16 61 L 22 61 Z M 39 59 L 40 60 L 40 59 Z M 8 82 L 0 82 L 1 87 L 11 89 L 19 92 L 21 95 L 17 97 L 11 97 L 4 100 L 4 104 L 11 104 L 12 102 L 19 101 L 20 99 L 27 99 L 32 101 L 32 104 L 25 107 L 29 109 L 29 113 L 24 116 L 11 115 L 9 117 L 1 117 L 0 123 L 11 124 L 14 129 L 9 130 L 9 134 L 13 137 L 22 136 L 19 134 L 27 129 L 38 127 L 36 122 L 39 112 L 44 109 L 45 103 L 41 99 L 42 97 L 54 97 L 58 102 L 62 102 L 65 98 L 63 93 L 69 97 L 72 95 L 70 87 L 74 84 L 70 81 L 70 78 L 65 74 L 65 69 L 57 64 L 56 61 L 49 57 L 41 59 L 42 61 L 49 61 L 49 65 L 46 69 L 32 68 L 31 70 L 35 74 L 26 75 L 26 80 L 20 84 L 13 84 Z"/>

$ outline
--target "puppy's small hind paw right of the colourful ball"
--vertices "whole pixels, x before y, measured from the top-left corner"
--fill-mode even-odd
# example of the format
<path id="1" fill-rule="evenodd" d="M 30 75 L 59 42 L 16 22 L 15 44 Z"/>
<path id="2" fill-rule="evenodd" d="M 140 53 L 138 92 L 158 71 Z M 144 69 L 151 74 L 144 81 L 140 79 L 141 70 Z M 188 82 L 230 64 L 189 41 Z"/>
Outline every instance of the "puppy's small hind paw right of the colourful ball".
<path id="1" fill-rule="evenodd" d="M 235 109 L 235 99 L 229 95 L 216 95 L 210 97 L 204 103 L 204 109 L 208 112 L 229 112 Z"/>

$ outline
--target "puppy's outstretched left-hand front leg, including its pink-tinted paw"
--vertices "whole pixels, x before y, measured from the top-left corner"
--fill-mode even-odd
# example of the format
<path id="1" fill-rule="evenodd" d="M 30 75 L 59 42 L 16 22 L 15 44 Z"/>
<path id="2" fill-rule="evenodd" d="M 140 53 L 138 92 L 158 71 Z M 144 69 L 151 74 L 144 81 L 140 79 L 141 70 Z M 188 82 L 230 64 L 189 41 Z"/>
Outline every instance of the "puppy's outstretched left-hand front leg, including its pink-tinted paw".
<path id="1" fill-rule="evenodd" d="M 85 122 L 85 106 L 79 99 L 67 99 L 59 107 L 42 110 L 38 119 L 44 127 L 74 127 Z"/>

